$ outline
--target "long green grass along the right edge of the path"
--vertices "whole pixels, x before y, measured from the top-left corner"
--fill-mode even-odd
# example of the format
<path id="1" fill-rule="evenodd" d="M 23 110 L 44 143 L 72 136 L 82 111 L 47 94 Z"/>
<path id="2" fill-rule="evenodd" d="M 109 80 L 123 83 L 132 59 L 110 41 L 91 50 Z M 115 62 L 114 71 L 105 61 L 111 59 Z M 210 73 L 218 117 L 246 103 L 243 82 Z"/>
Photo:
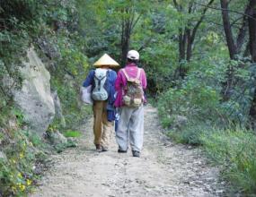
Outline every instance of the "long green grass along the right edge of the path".
<path id="1" fill-rule="evenodd" d="M 256 135 L 242 128 L 219 129 L 204 123 L 188 124 L 168 133 L 179 143 L 199 145 L 234 191 L 256 193 Z"/>

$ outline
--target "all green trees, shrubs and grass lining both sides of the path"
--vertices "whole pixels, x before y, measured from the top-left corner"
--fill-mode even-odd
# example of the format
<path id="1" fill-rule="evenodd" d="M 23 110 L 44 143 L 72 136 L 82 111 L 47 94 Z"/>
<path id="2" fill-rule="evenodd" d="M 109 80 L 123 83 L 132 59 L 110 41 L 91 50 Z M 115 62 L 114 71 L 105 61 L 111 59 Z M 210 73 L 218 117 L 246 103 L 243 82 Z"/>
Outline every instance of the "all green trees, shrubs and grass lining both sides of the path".
<path id="1" fill-rule="evenodd" d="M 31 46 L 62 107 L 46 136 L 79 137 L 76 126 L 92 113 L 78 99 L 92 63 L 108 53 L 123 66 L 128 49 L 137 49 L 146 97 L 168 135 L 201 146 L 235 191 L 256 193 L 254 0 L 0 3 L 0 195 L 29 192 L 46 154 L 75 146 L 74 140 L 54 146 L 28 131 L 15 105 L 13 90 L 22 88 L 19 71 Z"/>

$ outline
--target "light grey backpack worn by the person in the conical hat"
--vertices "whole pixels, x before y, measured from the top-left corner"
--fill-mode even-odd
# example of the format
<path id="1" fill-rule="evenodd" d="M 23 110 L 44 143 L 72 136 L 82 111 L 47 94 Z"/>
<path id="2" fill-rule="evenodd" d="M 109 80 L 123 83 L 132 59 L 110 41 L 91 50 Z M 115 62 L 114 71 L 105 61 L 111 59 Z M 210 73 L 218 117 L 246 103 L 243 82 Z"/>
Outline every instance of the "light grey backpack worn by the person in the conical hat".
<path id="1" fill-rule="evenodd" d="M 95 87 L 92 92 L 93 100 L 107 100 L 109 94 L 104 88 L 104 84 L 107 80 L 107 69 L 97 68 L 94 73 L 94 84 Z"/>

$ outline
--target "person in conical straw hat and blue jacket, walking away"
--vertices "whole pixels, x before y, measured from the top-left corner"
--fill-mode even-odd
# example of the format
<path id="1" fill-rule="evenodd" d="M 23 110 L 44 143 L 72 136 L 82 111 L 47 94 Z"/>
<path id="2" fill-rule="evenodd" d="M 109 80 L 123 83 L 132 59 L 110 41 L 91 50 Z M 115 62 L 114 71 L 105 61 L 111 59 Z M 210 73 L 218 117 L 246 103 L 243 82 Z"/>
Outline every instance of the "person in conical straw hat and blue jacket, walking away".
<path id="1" fill-rule="evenodd" d="M 114 84 L 117 73 L 111 68 L 119 67 L 119 64 L 109 55 L 104 54 L 93 65 L 96 69 L 90 71 L 83 86 L 92 86 L 94 144 L 96 150 L 100 152 L 108 150 L 113 131 L 113 121 L 115 120 Z"/>

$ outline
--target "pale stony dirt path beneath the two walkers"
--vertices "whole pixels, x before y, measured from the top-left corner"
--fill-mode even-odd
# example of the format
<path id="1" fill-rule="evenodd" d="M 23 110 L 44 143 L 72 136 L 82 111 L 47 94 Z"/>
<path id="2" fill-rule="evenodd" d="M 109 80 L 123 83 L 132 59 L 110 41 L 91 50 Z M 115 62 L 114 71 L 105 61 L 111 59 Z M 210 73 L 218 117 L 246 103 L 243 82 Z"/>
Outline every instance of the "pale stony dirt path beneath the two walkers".
<path id="1" fill-rule="evenodd" d="M 141 158 L 119 154 L 114 137 L 108 152 L 95 152 L 90 121 L 77 148 L 53 156 L 54 167 L 31 196 L 223 196 L 217 169 L 206 165 L 198 149 L 168 141 L 156 114 L 154 107 L 145 108 Z"/>

